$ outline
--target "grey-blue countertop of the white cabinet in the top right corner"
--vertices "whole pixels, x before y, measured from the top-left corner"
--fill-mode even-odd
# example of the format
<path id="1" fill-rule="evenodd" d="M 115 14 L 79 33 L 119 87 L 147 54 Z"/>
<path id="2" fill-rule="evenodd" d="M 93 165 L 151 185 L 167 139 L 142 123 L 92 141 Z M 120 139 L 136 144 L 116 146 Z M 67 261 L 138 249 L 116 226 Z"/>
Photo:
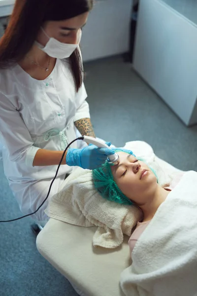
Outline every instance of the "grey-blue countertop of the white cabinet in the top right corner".
<path id="1" fill-rule="evenodd" d="M 160 0 L 197 25 L 197 0 Z"/>

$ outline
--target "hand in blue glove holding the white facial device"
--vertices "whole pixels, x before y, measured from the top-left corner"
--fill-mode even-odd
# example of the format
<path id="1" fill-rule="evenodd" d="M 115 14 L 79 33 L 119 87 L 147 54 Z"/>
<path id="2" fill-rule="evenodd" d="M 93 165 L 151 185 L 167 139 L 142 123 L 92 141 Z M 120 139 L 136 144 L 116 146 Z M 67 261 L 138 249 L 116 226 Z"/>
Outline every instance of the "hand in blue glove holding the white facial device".
<path id="1" fill-rule="evenodd" d="M 111 143 L 106 143 L 108 146 Z M 94 170 L 100 167 L 108 155 L 114 154 L 115 151 L 107 148 L 98 148 L 90 144 L 83 149 L 70 148 L 66 155 L 66 164 L 69 166 L 79 166 L 83 169 Z"/>

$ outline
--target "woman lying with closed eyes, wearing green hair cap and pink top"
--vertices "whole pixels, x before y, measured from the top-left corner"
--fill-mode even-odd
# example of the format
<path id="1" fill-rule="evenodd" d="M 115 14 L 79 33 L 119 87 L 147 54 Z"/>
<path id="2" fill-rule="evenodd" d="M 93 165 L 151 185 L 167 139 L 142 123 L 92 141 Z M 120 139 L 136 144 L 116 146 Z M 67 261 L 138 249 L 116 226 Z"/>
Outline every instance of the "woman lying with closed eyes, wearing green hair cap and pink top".
<path id="1" fill-rule="evenodd" d="M 129 240 L 132 254 L 139 236 L 184 173 L 179 173 L 171 184 L 163 188 L 158 185 L 155 172 L 137 159 L 132 151 L 116 151 L 119 154 L 119 164 L 111 166 L 105 162 L 102 167 L 93 171 L 93 180 L 102 197 L 117 203 L 133 204 L 142 211 L 142 219 L 137 222 Z"/>

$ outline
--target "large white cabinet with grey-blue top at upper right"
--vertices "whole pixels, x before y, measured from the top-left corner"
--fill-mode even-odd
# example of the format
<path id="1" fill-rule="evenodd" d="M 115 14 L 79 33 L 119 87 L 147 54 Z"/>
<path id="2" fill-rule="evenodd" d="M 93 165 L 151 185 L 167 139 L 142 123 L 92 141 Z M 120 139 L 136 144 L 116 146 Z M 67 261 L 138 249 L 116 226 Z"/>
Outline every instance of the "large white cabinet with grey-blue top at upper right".
<path id="1" fill-rule="evenodd" d="M 133 61 L 134 69 L 186 125 L 197 123 L 194 11 L 196 0 L 140 0 Z"/>

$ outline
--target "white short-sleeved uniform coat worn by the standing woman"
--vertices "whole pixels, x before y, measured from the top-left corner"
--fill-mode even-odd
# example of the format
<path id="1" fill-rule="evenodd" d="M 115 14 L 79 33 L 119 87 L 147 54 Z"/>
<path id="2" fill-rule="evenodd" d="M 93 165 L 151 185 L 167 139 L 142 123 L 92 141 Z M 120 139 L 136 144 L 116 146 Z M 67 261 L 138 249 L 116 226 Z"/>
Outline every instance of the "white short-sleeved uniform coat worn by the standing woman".
<path id="1" fill-rule="evenodd" d="M 68 62 L 57 60 L 45 80 L 32 78 L 19 65 L 0 70 L 0 142 L 4 173 L 24 214 L 32 213 L 41 204 L 57 170 L 57 166 L 33 167 L 37 150 L 64 150 L 80 136 L 73 122 L 90 117 L 86 97 L 84 84 L 76 93 Z M 82 141 L 77 142 L 71 147 L 84 145 Z M 69 172 L 71 167 L 60 167 L 49 198 L 58 191 Z M 47 219 L 46 205 L 34 219 Z"/>

